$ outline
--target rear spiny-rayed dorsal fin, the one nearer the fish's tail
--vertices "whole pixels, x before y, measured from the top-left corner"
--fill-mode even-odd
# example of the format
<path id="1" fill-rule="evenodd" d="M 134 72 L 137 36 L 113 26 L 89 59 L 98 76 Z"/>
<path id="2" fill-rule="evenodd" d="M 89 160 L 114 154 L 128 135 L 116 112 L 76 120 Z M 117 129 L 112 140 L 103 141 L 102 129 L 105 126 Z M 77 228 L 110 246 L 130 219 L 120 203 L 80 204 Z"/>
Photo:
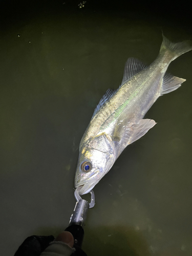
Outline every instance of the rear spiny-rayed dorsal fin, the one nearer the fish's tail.
<path id="1" fill-rule="evenodd" d="M 142 61 L 136 58 L 129 58 L 127 59 L 124 67 L 124 74 L 123 74 L 123 80 L 121 82 L 121 86 L 129 80 L 132 76 L 139 73 L 141 70 L 145 69 L 147 66 L 143 64 Z"/>

